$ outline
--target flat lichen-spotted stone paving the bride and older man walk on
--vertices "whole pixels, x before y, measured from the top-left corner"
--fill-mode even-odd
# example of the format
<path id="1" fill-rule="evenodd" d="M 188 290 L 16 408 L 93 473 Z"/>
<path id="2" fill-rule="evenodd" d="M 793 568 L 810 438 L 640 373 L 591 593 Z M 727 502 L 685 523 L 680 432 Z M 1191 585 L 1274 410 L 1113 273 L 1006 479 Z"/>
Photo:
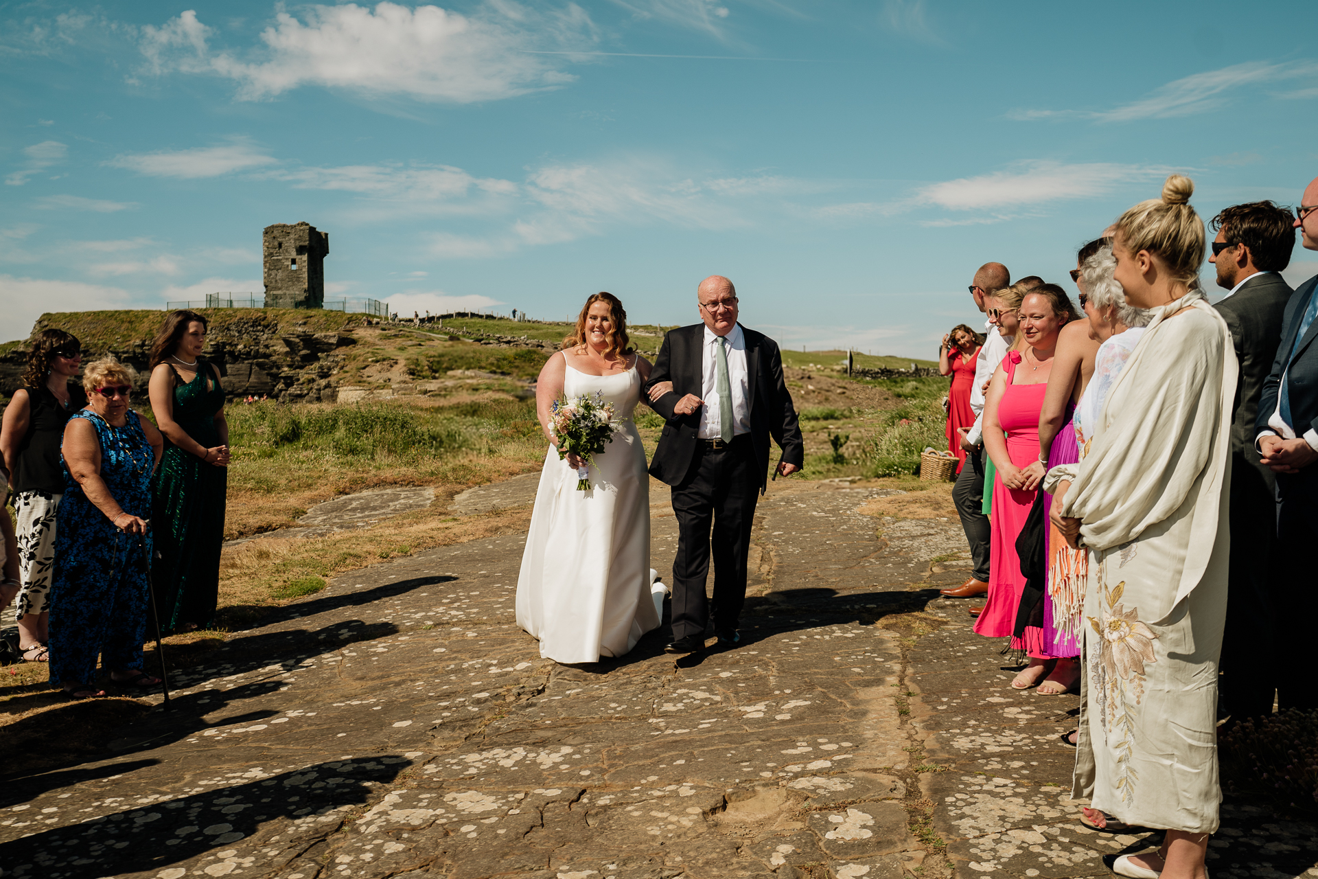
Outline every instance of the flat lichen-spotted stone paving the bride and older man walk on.
<path id="1" fill-rule="evenodd" d="M 463 503 L 521 503 L 527 488 Z M 1077 700 L 1007 687 L 1000 644 L 937 598 L 965 577 L 956 521 L 857 511 L 882 493 L 775 482 L 743 642 L 676 662 L 663 630 L 614 660 L 540 659 L 513 618 L 522 535 L 337 577 L 178 673 L 174 710 L 119 730 L 105 759 L 11 768 L 0 867 L 1050 878 L 1106 875 L 1104 857 L 1156 843 L 1074 820 L 1058 735 Z M 660 571 L 675 550 L 664 499 Z M 1215 876 L 1318 876 L 1311 825 L 1223 814 Z"/>

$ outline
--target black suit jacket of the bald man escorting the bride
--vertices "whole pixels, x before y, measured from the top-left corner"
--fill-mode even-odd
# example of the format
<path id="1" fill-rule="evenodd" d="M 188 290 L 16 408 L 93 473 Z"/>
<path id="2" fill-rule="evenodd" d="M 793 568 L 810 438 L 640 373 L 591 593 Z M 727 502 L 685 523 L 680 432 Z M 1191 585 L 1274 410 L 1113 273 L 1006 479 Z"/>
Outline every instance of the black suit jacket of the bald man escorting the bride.
<path id="1" fill-rule="evenodd" d="M 768 438 L 783 449 L 783 460 L 801 467 L 805 463 L 805 443 L 796 423 L 796 407 L 783 381 L 783 356 L 778 343 L 764 333 L 742 327 L 746 337 L 746 376 L 750 390 L 750 435 L 759 460 L 760 492 L 768 480 Z M 691 415 L 673 412 L 673 406 L 687 394 L 704 395 L 701 348 L 705 343 L 705 324 L 679 327 L 664 333 L 659 356 L 650 370 L 651 385 L 672 382 L 672 391 L 654 402 L 652 409 L 667 423 L 659 435 L 659 445 L 650 461 L 650 474 L 668 485 L 677 485 L 687 477 L 696 453 L 696 434 L 700 431 L 700 410 Z"/>

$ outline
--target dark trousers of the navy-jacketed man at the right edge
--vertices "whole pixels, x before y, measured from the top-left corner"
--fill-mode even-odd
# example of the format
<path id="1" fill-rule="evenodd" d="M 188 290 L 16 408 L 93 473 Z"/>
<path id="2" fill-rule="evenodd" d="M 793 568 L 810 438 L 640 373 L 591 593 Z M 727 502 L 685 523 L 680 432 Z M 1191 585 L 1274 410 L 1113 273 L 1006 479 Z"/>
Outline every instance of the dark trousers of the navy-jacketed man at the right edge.
<path id="1" fill-rule="evenodd" d="M 1276 634 L 1260 644 L 1260 675 L 1277 681 L 1277 708 L 1318 708 L 1313 669 L 1313 622 L 1318 618 L 1318 464 L 1300 473 L 1277 473 L 1277 547 L 1272 555 Z"/>

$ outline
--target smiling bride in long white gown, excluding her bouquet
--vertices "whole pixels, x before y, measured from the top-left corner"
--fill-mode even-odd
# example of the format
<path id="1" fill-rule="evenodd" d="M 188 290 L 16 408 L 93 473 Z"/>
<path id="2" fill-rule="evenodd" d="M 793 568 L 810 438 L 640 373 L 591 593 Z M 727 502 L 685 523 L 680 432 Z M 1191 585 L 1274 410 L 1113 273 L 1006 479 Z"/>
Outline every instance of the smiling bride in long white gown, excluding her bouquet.
<path id="1" fill-rule="evenodd" d="M 622 303 L 609 293 L 592 295 L 535 390 L 550 451 L 517 580 L 517 625 L 539 639 L 540 656 L 564 664 L 621 656 L 659 627 L 651 600 L 650 474 L 631 422 L 650 362 L 629 352 L 627 341 Z M 579 492 L 580 461 L 575 455 L 559 460 L 550 407 L 561 397 L 596 391 L 623 423 L 592 459 L 590 490 Z"/>

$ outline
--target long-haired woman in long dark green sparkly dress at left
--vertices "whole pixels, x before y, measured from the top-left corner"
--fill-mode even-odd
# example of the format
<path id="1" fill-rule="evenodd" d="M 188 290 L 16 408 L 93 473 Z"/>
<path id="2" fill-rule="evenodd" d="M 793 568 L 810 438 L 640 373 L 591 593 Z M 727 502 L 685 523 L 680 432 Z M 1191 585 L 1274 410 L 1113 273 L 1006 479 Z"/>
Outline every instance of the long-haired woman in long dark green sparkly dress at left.
<path id="1" fill-rule="evenodd" d="M 161 630 L 215 623 L 219 601 L 229 424 L 220 372 L 202 357 L 206 318 L 174 311 L 152 343 L 152 411 L 165 439 L 156 480 L 153 572 Z"/>

